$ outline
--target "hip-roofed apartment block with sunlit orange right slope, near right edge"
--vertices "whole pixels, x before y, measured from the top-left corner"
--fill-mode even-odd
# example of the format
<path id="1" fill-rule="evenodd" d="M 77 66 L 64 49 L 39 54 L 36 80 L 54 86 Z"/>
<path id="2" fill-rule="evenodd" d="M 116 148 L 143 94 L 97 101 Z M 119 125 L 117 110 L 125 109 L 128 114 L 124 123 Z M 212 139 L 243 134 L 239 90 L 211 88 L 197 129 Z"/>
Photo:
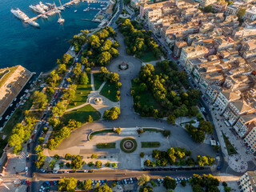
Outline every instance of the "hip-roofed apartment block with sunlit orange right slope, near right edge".
<path id="1" fill-rule="evenodd" d="M 230 125 L 233 126 L 235 122 L 238 121 L 238 118 L 243 114 L 253 113 L 254 108 L 250 106 L 244 99 L 236 100 L 230 102 L 229 106 L 225 110 L 223 116 L 230 122 Z"/>

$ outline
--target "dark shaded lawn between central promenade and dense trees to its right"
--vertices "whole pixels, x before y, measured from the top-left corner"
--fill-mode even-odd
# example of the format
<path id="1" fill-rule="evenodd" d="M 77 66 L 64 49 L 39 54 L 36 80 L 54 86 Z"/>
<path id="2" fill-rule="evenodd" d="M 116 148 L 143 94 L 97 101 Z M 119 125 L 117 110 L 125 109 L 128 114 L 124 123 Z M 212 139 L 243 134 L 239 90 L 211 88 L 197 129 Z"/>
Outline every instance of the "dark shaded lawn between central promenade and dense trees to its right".
<path id="1" fill-rule="evenodd" d="M 135 93 L 138 93 L 138 84 L 134 81 L 131 82 L 132 87 L 135 90 Z M 158 104 L 158 102 L 154 99 L 153 94 L 149 90 L 143 93 L 139 93 L 138 96 L 141 98 L 140 102 L 142 106 L 154 106 L 154 109 L 161 110 L 162 107 Z"/>

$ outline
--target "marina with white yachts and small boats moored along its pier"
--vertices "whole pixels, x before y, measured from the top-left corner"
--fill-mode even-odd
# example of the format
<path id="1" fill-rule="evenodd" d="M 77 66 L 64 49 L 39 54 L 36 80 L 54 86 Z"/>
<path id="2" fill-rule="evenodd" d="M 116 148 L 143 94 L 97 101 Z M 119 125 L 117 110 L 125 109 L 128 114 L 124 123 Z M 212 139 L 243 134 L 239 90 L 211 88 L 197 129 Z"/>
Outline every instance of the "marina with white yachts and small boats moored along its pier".
<path id="1" fill-rule="evenodd" d="M 17 18 L 20 18 L 22 21 L 30 24 L 30 26 L 36 26 L 39 27 L 39 24 L 37 22 L 35 22 L 38 18 L 48 18 L 48 16 L 52 16 L 54 14 L 59 14 L 59 19 L 58 22 L 59 23 L 63 23 L 65 21 L 64 18 L 61 17 L 60 13 L 61 11 L 64 11 L 65 8 L 69 9 L 71 5 L 77 4 L 78 2 L 87 2 L 88 6 L 90 6 L 90 3 L 109 3 L 106 1 L 93 1 L 93 0 L 73 0 L 70 2 L 66 2 L 65 4 L 62 5 L 62 2 L 59 0 L 59 4 L 60 6 L 56 6 L 55 2 L 54 3 L 50 3 L 50 2 L 46 2 L 46 5 L 43 4 L 42 2 L 39 2 L 39 4 L 35 4 L 35 5 L 30 5 L 29 7 L 31 8 L 31 10 L 33 10 L 35 13 L 37 13 L 38 15 L 33 17 L 33 18 L 29 18 L 25 13 L 23 13 L 21 10 L 17 9 L 17 10 L 13 10 L 11 9 L 11 13 L 14 14 L 14 16 L 16 16 Z M 107 5 L 101 5 L 101 7 L 105 7 Z M 104 8 L 86 8 L 85 10 L 83 10 L 84 12 L 87 12 L 89 10 L 104 10 Z M 74 13 L 76 13 L 78 10 L 74 10 Z"/>

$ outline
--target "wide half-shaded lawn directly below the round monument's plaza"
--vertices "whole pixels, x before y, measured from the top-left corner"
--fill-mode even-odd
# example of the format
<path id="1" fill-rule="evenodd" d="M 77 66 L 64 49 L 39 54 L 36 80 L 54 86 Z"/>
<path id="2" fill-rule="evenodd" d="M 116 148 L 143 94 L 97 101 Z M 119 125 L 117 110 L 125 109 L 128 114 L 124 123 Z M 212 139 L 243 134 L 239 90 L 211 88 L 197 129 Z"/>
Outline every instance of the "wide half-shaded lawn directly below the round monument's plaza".
<path id="1" fill-rule="evenodd" d="M 69 122 L 70 119 L 74 119 L 77 122 L 86 123 L 86 118 L 91 116 L 94 121 L 97 121 L 101 118 L 101 114 L 98 110 L 95 110 L 94 107 L 90 106 L 90 104 L 83 106 L 77 110 L 71 110 L 62 116 L 64 122 Z"/>

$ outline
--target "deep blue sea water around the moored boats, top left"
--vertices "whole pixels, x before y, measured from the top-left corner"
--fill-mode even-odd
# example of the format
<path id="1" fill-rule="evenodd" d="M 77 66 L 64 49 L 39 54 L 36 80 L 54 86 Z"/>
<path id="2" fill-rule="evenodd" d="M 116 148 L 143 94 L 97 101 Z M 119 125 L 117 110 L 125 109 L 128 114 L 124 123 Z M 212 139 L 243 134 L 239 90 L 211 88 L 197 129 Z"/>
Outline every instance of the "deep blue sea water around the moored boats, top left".
<path id="1" fill-rule="evenodd" d="M 31 4 L 40 0 L 0 0 L 0 68 L 22 65 L 30 71 L 47 72 L 56 66 L 57 58 L 61 58 L 69 49 L 69 40 L 80 30 L 90 30 L 98 26 L 97 22 L 82 21 L 92 19 L 98 10 L 84 12 L 87 2 L 79 2 L 62 11 L 65 22 L 58 24 L 58 14 L 48 16 L 47 19 L 38 18 L 40 28 L 23 23 L 10 9 L 19 8 L 28 17 L 37 14 L 30 9 Z M 42 0 L 53 3 L 53 0 Z M 58 0 L 54 1 L 59 5 Z M 62 4 L 69 2 L 63 0 Z M 89 7 L 101 7 L 99 3 L 90 3 Z M 74 13 L 74 10 L 78 10 Z"/>

